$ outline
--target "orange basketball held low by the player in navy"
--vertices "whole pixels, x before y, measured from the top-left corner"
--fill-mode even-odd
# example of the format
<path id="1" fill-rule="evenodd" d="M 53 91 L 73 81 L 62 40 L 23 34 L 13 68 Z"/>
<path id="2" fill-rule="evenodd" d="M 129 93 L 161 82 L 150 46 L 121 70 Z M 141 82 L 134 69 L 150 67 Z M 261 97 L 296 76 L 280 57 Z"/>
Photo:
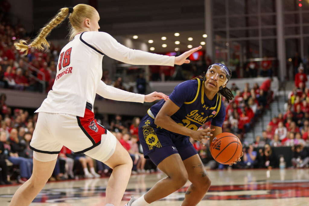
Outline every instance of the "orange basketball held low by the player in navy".
<path id="1" fill-rule="evenodd" d="M 209 149 L 214 160 L 228 165 L 237 161 L 243 151 L 243 146 L 234 134 L 223 132 L 214 137 Z"/>

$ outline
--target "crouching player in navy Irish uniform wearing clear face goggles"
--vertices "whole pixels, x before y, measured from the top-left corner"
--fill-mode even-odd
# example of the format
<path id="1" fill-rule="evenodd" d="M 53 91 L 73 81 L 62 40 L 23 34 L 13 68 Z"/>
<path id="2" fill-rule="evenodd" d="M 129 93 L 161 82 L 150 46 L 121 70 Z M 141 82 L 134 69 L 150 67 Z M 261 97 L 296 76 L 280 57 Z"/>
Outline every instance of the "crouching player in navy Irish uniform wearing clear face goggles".
<path id="1" fill-rule="evenodd" d="M 203 144 L 203 139 L 210 137 L 212 141 L 222 133 L 226 113 L 221 95 L 228 102 L 234 97 L 226 88 L 230 78 L 231 70 L 215 63 L 204 77 L 180 83 L 166 102 L 161 100 L 148 110 L 139 125 L 139 140 L 145 158 L 150 158 L 168 177 L 137 200 L 131 199 L 127 206 L 148 205 L 177 191 L 187 180 L 192 184 L 181 205 L 197 205 L 202 200 L 210 178 L 189 137 Z M 211 128 L 198 130 L 210 120 Z"/>

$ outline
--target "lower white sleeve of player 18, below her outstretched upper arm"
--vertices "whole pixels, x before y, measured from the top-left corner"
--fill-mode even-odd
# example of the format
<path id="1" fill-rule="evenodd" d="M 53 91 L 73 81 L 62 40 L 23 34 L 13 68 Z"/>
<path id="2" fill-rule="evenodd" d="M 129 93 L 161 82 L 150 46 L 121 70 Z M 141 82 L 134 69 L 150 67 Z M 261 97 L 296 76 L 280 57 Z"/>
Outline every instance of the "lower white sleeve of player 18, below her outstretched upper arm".
<path id="1" fill-rule="evenodd" d="M 96 93 L 106 99 L 113 99 L 117 101 L 144 103 L 145 99 L 145 95 L 117 89 L 115 87 L 106 85 L 103 81 L 99 82 Z"/>

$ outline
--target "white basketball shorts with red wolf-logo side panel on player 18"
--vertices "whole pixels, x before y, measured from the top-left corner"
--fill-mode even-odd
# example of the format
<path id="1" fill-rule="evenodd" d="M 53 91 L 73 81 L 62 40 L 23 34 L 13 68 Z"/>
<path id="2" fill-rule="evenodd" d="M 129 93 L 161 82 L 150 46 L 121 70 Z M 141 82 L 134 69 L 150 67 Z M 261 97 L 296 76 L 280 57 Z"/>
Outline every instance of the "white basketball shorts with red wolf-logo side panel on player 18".
<path id="1" fill-rule="evenodd" d="M 87 103 L 84 117 L 39 112 L 30 142 L 33 157 L 41 162 L 52 161 L 64 145 L 74 153 L 85 153 L 101 162 L 107 161 L 115 151 L 117 139 L 96 122 L 91 109 L 92 105 Z"/>

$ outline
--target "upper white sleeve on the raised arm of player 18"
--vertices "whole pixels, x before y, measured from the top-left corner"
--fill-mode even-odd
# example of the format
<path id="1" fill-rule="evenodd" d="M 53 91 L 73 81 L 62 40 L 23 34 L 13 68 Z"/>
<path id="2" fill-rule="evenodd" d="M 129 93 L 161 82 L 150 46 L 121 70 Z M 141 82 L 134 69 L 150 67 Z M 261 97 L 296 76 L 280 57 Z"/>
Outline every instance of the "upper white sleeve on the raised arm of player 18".
<path id="1" fill-rule="evenodd" d="M 93 46 L 108 57 L 132 65 L 174 66 L 175 57 L 130 49 L 105 32 L 93 32 Z"/>

